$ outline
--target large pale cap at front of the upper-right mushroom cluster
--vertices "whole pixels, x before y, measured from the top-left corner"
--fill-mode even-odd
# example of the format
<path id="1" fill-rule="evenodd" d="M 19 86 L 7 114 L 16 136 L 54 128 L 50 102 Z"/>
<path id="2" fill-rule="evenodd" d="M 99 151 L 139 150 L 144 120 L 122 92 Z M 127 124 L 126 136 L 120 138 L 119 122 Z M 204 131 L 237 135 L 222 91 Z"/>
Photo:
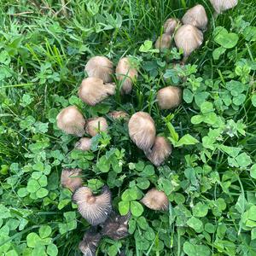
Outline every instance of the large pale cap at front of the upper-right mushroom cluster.
<path id="1" fill-rule="evenodd" d="M 178 49 L 183 49 L 183 55 L 189 56 L 203 42 L 203 33 L 192 25 L 183 25 L 177 29 L 174 37 Z"/>

